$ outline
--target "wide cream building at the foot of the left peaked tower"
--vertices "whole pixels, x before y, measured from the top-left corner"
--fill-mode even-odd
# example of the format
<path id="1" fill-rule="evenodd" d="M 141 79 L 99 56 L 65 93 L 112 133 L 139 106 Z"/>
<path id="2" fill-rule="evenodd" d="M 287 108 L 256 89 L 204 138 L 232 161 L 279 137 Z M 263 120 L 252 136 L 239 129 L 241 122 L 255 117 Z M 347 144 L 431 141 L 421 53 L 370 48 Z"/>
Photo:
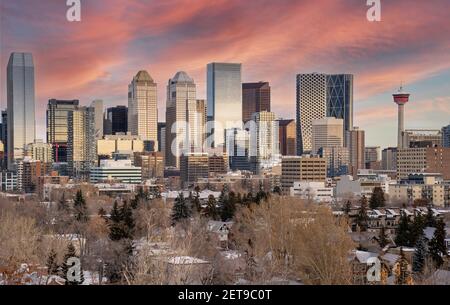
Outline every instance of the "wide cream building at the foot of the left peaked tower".
<path id="1" fill-rule="evenodd" d="M 144 141 L 140 136 L 131 134 L 106 135 L 97 140 L 97 156 L 112 157 L 115 152 L 129 151 L 131 153 L 143 152 Z"/>

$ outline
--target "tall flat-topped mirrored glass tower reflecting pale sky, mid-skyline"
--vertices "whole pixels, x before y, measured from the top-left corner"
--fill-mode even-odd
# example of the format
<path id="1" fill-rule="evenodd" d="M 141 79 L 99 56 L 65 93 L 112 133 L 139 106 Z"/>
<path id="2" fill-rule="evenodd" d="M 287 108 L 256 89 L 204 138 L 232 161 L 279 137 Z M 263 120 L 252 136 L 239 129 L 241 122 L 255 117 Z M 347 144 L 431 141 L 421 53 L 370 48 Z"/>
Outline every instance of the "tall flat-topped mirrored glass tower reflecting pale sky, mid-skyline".
<path id="1" fill-rule="evenodd" d="M 241 64 L 207 66 L 208 147 L 225 145 L 225 130 L 242 128 Z"/>

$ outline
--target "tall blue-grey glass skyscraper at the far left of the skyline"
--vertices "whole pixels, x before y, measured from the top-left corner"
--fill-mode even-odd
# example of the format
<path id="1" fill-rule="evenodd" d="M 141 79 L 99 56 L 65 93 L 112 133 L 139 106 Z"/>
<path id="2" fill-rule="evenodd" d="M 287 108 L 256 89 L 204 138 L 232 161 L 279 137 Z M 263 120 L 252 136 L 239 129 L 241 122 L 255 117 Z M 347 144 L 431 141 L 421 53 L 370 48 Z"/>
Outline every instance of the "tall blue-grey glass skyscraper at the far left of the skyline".
<path id="1" fill-rule="evenodd" d="M 8 168 L 23 159 L 36 138 L 34 63 L 30 53 L 12 53 L 6 77 L 8 100 Z"/>

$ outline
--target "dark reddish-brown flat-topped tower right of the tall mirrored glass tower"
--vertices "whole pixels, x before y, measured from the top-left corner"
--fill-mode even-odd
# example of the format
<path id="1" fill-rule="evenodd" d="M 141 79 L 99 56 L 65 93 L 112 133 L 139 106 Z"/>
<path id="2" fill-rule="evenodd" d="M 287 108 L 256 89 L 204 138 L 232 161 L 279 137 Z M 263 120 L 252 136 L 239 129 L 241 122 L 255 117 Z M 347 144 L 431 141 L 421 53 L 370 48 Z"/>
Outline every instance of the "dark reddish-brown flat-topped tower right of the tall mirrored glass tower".
<path id="1" fill-rule="evenodd" d="M 252 119 L 255 112 L 270 112 L 270 85 L 268 82 L 242 84 L 242 120 Z"/>

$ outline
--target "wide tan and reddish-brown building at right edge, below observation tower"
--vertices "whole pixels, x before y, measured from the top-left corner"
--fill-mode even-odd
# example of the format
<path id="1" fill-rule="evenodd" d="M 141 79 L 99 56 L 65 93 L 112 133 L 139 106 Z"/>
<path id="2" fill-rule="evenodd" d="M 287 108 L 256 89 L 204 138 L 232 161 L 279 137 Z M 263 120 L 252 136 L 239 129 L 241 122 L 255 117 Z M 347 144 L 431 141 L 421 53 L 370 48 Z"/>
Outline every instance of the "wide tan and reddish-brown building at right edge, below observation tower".
<path id="1" fill-rule="evenodd" d="M 450 148 L 407 148 L 397 152 L 397 179 L 410 174 L 440 173 L 450 180 Z"/>

